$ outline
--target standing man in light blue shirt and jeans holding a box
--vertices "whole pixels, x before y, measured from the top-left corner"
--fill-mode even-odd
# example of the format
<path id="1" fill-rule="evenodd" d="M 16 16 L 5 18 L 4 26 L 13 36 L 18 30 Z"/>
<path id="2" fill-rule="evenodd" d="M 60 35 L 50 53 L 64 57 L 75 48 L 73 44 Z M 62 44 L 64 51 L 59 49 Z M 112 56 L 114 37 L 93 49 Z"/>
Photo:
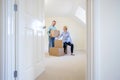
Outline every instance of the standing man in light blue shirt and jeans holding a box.
<path id="1" fill-rule="evenodd" d="M 54 41 L 55 41 L 54 31 L 57 30 L 55 25 L 56 25 L 56 21 L 53 20 L 52 25 L 48 28 L 49 48 L 54 47 Z"/>

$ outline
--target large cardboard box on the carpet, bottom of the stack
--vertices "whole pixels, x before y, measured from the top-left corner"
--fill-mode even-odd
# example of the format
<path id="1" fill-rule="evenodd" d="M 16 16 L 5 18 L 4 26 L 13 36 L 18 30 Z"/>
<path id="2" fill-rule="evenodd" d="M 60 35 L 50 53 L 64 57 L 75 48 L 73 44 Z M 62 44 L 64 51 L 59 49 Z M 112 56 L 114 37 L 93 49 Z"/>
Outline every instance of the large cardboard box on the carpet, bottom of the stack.
<path id="1" fill-rule="evenodd" d="M 63 56 L 64 49 L 63 48 L 50 48 L 50 55 L 52 56 Z"/>

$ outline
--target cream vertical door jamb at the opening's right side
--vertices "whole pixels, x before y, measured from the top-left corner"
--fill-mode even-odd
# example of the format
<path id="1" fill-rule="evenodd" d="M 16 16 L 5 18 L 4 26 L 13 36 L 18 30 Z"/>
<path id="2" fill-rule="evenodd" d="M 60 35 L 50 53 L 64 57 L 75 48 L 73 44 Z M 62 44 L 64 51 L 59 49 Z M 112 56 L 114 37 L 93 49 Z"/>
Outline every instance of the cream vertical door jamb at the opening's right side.
<path id="1" fill-rule="evenodd" d="M 94 31 L 93 31 L 93 3 L 94 0 L 87 0 L 87 78 L 94 80 Z"/>

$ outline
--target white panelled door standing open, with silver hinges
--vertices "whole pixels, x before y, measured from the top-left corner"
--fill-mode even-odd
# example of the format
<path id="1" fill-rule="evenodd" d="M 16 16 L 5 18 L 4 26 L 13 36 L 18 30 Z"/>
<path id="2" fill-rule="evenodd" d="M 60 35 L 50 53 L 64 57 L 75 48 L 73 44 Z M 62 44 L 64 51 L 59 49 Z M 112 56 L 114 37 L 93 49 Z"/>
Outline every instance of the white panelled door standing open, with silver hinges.
<path id="1" fill-rule="evenodd" d="M 17 80 L 35 80 L 44 66 L 44 0 L 17 0 Z"/>

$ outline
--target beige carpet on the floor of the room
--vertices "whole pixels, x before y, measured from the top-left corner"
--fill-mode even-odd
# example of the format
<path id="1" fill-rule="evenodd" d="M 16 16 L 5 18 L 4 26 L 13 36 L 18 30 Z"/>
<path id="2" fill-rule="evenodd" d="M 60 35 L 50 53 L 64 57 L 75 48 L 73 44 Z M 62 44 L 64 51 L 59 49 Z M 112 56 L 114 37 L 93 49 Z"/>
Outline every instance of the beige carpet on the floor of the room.
<path id="1" fill-rule="evenodd" d="M 47 56 L 46 70 L 36 80 L 85 80 L 86 54 L 76 52 L 75 56 Z"/>

